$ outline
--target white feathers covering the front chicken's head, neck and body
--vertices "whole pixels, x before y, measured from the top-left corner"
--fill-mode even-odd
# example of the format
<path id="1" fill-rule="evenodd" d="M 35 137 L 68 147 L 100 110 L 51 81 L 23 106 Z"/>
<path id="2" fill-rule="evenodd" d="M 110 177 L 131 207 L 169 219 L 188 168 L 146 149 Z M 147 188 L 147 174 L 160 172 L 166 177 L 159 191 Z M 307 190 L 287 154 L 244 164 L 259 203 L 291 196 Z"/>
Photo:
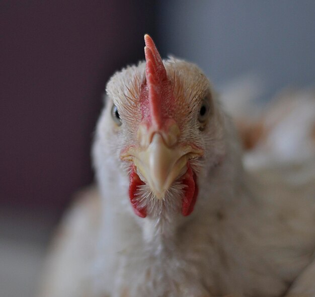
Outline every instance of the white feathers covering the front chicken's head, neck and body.
<path id="1" fill-rule="evenodd" d="M 183 105 L 192 111 L 205 87 L 214 94 L 195 65 L 175 58 L 165 65 L 169 77 L 176 79 Z M 70 234 L 51 260 L 54 269 L 48 279 L 53 289 L 43 296 L 281 296 L 312 259 L 314 175 L 292 185 L 272 178 L 278 176 L 276 171 L 257 166 L 251 167 L 250 176 L 243 169 L 237 133 L 213 95 L 213 115 L 205 131 L 196 129 L 193 112 L 183 123 L 182 138 L 205 150 L 203 159 L 192 164 L 200 190 L 193 213 L 183 217 L 178 211 L 183 190 L 179 182 L 164 201 L 154 200 L 150 189 L 142 186 L 138 197 L 150 215 L 137 217 L 128 201 L 128 165 L 122 164 L 119 153 L 135 135 L 143 71 L 143 63 L 128 67 L 108 84 L 107 107 L 93 148 L 99 186 L 94 200 L 99 206 L 91 211 L 86 205 L 83 212 L 74 211 L 68 218 L 65 225 Z M 121 108 L 127 128 L 115 128 L 111 100 Z M 306 117 L 303 120 L 306 125 Z M 284 140 L 277 137 L 287 125 L 292 125 L 290 133 L 296 141 L 305 137 L 295 131 L 300 123 L 291 121 L 289 116 L 269 135 L 277 143 L 273 148 L 277 156 L 286 150 Z M 292 156 L 289 151 L 283 153 L 285 160 Z M 91 222 L 96 210 L 97 227 Z M 298 288 L 298 293 L 307 289 Z"/>

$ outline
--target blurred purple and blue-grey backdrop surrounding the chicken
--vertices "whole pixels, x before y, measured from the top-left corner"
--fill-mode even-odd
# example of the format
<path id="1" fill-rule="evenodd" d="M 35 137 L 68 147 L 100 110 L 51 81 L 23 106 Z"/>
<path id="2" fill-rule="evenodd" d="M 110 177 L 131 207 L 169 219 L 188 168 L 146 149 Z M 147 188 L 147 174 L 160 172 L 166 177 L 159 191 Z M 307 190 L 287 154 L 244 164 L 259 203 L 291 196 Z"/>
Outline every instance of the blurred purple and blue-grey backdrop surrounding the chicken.
<path id="1" fill-rule="evenodd" d="M 93 183 L 105 84 L 144 58 L 144 33 L 219 92 L 259 77 L 265 102 L 315 82 L 314 28 L 306 0 L 0 1 L 0 295 L 34 296 L 58 219 Z"/>

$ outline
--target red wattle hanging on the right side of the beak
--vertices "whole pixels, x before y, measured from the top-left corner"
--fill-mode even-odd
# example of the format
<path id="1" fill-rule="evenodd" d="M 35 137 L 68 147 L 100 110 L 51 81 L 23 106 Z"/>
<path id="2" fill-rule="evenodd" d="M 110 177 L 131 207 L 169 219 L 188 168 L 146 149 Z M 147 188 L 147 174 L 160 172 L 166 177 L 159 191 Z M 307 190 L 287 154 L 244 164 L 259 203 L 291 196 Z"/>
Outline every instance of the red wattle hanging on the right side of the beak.
<path id="1" fill-rule="evenodd" d="M 198 186 L 196 181 L 196 175 L 192 171 L 190 165 L 188 164 L 187 172 L 184 175 L 183 184 L 187 187 L 185 188 L 185 194 L 182 201 L 182 214 L 187 216 L 192 213 L 197 200 Z"/>

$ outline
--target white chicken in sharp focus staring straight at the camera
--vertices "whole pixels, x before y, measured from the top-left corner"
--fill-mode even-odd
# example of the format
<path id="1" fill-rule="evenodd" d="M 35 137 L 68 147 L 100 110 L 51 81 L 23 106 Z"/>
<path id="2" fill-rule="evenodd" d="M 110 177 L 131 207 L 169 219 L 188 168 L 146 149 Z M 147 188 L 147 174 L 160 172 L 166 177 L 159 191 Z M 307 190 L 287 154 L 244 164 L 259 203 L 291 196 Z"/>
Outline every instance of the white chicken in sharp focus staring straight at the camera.
<path id="1" fill-rule="evenodd" d="M 249 174 L 202 71 L 144 39 L 145 62 L 107 85 L 97 187 L 65 216 L 41 296 L 315 296 L 315 178 Z"/>

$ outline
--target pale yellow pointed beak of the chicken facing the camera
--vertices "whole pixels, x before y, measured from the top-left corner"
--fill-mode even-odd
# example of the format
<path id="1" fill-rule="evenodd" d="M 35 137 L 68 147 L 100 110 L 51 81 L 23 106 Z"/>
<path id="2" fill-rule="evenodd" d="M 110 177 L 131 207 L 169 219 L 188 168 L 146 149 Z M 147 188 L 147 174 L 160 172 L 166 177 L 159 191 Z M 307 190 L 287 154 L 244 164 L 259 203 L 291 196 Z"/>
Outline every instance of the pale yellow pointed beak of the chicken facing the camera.
<path id="1" fill-rule="evenodd" d="M 169 131 L 168 134 L 170 133 L 172 131 Z M 140 143 L 141 140 L 147 139 L 147 136 L 147 131 L 144 129 L 138 131 Z M 185 174 L 187 161 L 202 155 L 202 150 L 193 145 L 175 144 L 170 147 L 165 142 L 167 139 L 174 139 L 174 137 L 172 138 L 174 135 L 163 136 L 161 133 L 155 132 L 148 145 L 145 145 L 146 147 L 132 146 L 121 155 L 122 159 L 133 161 L 140 173 L 140 178 L 145 178 L 158 199 L 163 199 L 173 182 Z M 142 143 L 145 142 L 142 141 Z"/>

